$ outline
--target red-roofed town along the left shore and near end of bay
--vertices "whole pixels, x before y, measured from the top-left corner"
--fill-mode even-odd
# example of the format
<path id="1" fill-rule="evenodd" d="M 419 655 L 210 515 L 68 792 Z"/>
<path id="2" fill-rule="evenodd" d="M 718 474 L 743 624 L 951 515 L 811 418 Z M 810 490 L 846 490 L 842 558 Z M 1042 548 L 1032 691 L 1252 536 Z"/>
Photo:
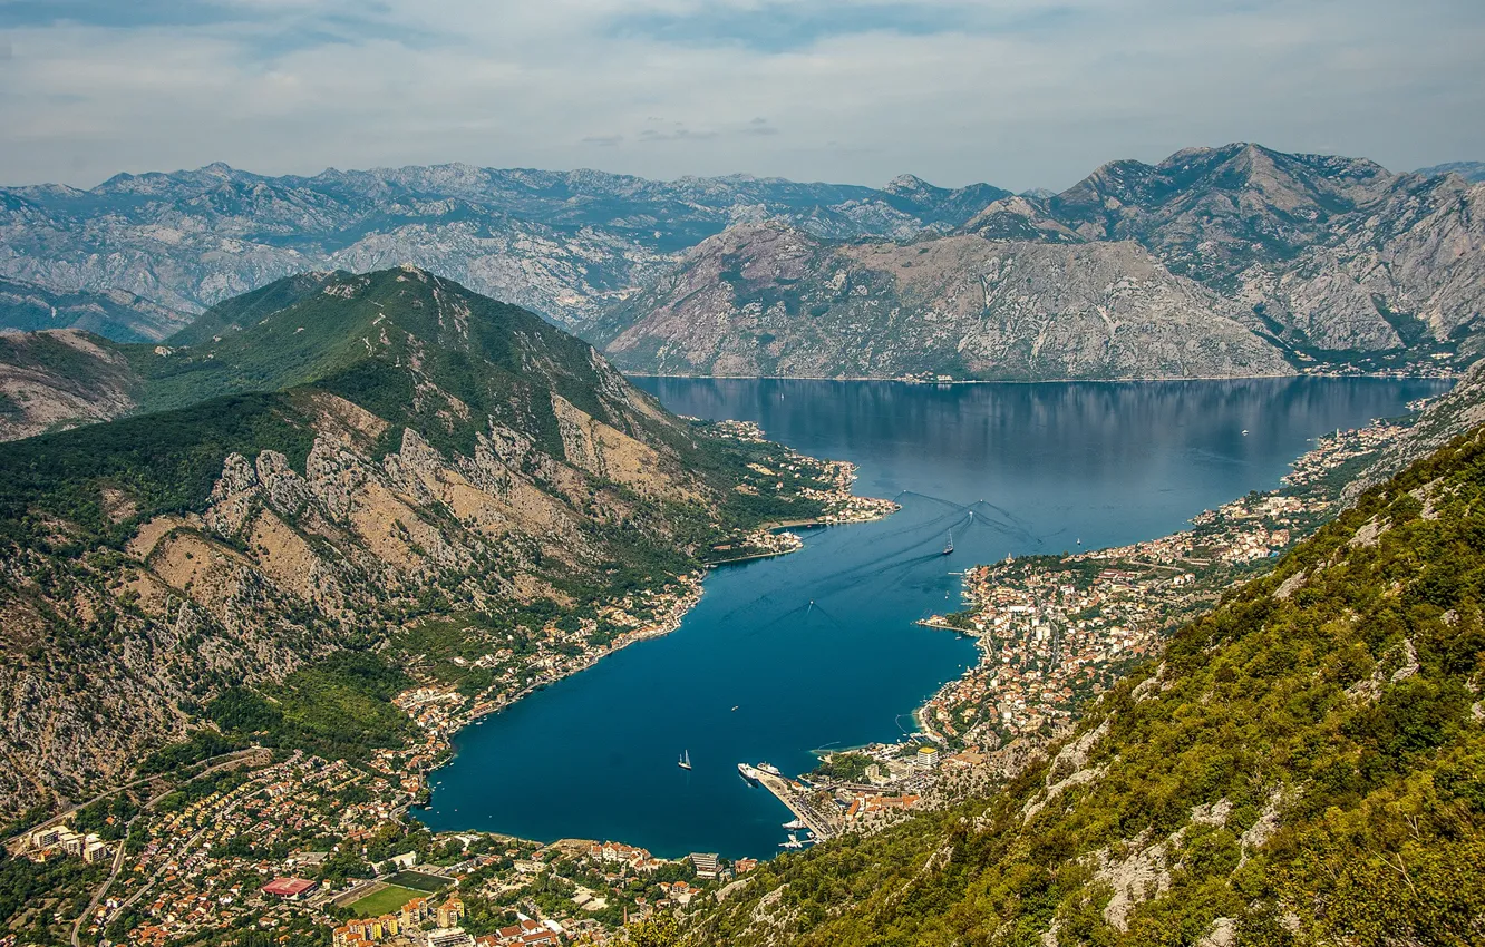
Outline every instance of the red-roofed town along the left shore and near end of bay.
<path id="1" fill-rule="evenodd" d="M 707 425 L 762 442 L 756 425 Z M 432 834 L 410 807 L 462 727 L 576 674 L 616 650 L 670 634 L 702 594 L 707 568 L 803 545 L 784 525 L 861 522 L 897 509 L 851 493 L 855 468 L 781 451 L 742 491 L 803 496 L 818 517 L 744 533 L 671 576 L 582 615 L 554 615 L 500 635 L 468 622 L 422 620 L 401 632 L 419 653 L 417 684 L 392 705 L 416 736 L 359 758 L 254 748 L 138 781 L 12 837 L 6 851 L 65 877 L 70 895 L 39 900 L 0 932 L 70 931 L 74 944 L 175 947 L 260 932 L 275 944 L 466 947 L 601 944 L 625 922 L 685 907 L 756 867 L 692 853 L 661 859 L 601 840 L 538 845 L 489 833 Z M 520 631 L 520 634 L 517 634 Z M 267 941 L 264 941 L 267 943 Z"/>

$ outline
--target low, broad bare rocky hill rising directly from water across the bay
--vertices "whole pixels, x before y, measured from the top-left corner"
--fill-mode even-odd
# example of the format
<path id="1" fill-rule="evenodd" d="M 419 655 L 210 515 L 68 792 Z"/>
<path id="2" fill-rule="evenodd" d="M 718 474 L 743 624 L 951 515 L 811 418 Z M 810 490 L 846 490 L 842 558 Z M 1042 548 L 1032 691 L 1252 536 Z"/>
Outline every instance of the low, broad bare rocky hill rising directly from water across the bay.
<path id="1" fill-rule="evenodd" d="M 1287 373 L 1240 315 L 1132 242 L 841 245 L 768 224 L 704 242 L 595 334 L 619 365 L 662 374 Z"/>

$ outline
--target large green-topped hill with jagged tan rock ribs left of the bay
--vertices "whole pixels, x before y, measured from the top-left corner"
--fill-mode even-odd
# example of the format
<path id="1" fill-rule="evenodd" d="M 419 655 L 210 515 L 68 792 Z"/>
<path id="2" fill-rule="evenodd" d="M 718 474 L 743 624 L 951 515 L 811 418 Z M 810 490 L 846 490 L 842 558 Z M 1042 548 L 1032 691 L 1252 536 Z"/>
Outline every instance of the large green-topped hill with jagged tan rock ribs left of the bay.
<path id="1" fill-rule="evenodd" d="M 224 689 L 410 616 L 689 568 L 741 496 L 741 462 L 590 346 L 419 269 L 272 285 L 217 318 L 129 349 L 154 362 L 120 390 L 172 410 L 0 445 L 7 816 L 116 784 Z M 43 341 L 95 338 L 24 344 Z"/>

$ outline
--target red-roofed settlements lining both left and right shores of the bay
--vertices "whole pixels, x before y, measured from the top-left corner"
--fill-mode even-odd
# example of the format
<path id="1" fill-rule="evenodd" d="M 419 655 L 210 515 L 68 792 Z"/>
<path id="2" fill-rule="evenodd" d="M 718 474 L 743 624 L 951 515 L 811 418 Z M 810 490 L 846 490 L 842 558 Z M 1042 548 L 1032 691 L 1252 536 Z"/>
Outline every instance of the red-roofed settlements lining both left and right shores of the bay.
<path id="1" fill-rule="evenodd" d="M 794 778 L 745 767 L 744 778 L 793 816 L 783 851 L 876 831 L 930 805 L 943 781 L 983 770 L 996 751 L 1062 732 L 1080 702 L 1149 658 L 1184 616 L 1311 528 L 1331 502 L 1322 488 L 1328 471 L 1400 430 L 1372 425 L 1322 438 L 1285 490 L 1204 512 L 1172 536 L 967 570 L 967 607 L 922 623 L 971 635 L 980 658 L 919 708 L 916 732 L 826 754 Z M 734 436 L 762 433 L 735 425 Z M 820 488 L 826 522 L 895 509 L 854 497 L 849 465 L 790 459 L 757 471 L 759 485 L 800 471 L 829 484 Z M 713 552 L 778 555 L 799 542 L 768 530 Z M 105 947 L 232 943 L 229 932 L 261 932 L 285 947 L 603 944 L 625 923 L 723 897 L 745 882 L 754 859 L 707 852 L 667 859 L 613 840 L 435 834 L 407 816 L 428 799 L 428 773 L 448 758 L 459 729 L 604 655 L 674 631 L 699 600 L 704 576 L 705 568 L 676 576 L 576 620 L 554 616 L 532 629 L 521 653 L 431 649 L 441 672 L 425 671 L 394 698 L 417 733 L 404 745 L 353 760 L 238 751 L 187 767 L 175 782 L 132 784 L 13 837 L 12 856 L 65 868 L 74 885 L 70 898 L 40 901 L 24 923 L 61 926 L 74 944 Z M 0 932 L 0 947 L 27 943 L 22 934 L 24 926 Z"/>

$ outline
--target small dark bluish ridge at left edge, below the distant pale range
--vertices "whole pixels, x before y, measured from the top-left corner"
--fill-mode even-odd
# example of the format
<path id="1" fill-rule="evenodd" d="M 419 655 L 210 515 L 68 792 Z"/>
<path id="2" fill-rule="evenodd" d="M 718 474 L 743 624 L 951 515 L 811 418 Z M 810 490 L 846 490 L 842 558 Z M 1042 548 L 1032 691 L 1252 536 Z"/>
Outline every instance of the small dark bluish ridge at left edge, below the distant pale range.
<path id="1" fill-rule="evenodd" d="M 122 289 L 59 292 L 0 276 L 0 332 L 85 330 L 114 341 L 157 341 L 190 316 Z"/>

